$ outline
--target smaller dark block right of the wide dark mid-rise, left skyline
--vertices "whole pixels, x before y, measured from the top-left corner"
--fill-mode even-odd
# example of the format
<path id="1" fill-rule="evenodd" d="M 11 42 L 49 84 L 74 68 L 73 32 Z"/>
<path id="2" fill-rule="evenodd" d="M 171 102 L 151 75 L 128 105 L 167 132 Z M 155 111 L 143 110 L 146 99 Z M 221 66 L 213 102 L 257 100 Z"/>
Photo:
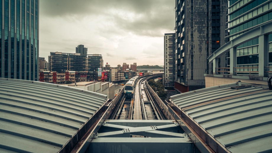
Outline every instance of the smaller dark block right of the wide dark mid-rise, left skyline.
<path id="1" fill-rule="evenodd" d="M 103 69 L 103 57 L 100 54 L 89 54 L 87 55 L 88 71 L 90 73 L 96 73 L 98 68 Z"/>

